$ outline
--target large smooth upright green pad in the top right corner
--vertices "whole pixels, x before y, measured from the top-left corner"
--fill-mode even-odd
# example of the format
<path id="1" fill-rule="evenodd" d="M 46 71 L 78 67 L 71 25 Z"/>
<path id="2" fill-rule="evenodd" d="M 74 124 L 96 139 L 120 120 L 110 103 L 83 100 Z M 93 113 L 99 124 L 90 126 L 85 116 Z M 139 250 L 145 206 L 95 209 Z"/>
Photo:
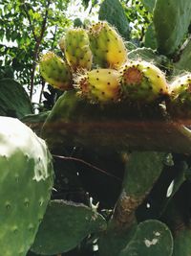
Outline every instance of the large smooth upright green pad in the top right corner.
<path id="1" fill-rule="evenodd" d="M 154 26 L 160 54 L 171 55 L 180 46 L 190 25 L 190 0 L 158 0 Z"/>

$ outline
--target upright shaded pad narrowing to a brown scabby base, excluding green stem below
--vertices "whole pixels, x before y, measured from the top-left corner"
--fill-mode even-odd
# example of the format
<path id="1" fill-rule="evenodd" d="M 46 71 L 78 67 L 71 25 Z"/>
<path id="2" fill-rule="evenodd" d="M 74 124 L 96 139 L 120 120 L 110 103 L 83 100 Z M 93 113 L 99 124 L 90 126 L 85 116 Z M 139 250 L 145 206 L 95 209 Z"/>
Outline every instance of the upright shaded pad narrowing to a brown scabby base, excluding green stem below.
<path id="1" fill-rule="evenodd" d="M 164 159 L 165 153 L 156 151 L 134 151 L 127 156 L 122 192 L 114 213 L 119 225 L 129 225 L 138 205 L 159 178 Z"/>

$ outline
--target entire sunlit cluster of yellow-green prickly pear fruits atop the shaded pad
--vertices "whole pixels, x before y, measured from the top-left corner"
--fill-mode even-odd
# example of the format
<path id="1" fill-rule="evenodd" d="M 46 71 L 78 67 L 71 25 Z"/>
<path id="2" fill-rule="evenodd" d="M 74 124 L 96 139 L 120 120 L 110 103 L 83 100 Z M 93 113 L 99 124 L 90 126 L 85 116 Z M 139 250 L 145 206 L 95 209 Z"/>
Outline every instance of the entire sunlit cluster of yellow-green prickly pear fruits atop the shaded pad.
<path id="1" fill-rule="evenodd" d="M 172 115 L 182 115 L 184 106 L 189 109 L 190 74 L 168 82 L 152 62 L 128 59 L 124 40 L 106 21 L 88 30 L 70 29 L 59 46 L 63 58 L 48 52 L 39 63 L 42 77 L 54 88 L 74 89 L 80 97 L 101 105 L 166 101 Z"/>

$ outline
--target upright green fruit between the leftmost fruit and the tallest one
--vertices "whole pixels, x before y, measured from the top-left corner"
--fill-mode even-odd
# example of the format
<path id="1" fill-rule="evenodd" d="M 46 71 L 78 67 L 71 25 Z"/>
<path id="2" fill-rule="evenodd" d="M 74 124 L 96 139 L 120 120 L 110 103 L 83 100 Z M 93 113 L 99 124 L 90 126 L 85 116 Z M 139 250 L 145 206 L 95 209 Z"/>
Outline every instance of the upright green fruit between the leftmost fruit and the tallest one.
<path id="1" fill-rule="evenodd" d="M 60 40 L 60 48 L 74 71 L 77 69 L 91 69 L 92 67 L 92 51 L 88 34 L 83 29 L 69 30 L 65 38 Z"/>

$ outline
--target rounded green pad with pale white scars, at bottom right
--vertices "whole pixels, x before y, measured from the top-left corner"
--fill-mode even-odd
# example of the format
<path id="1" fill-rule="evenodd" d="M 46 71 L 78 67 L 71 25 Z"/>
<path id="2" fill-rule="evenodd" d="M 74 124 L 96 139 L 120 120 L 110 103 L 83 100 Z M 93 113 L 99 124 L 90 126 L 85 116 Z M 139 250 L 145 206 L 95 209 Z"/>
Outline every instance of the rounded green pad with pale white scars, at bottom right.
<path id="1" fill-rule="evenodd" d="M 136 234 L 119 256 L 171 256 L 172 253 L 173 238 L 168 227 L 149 220 L 138 224 Z"/>

